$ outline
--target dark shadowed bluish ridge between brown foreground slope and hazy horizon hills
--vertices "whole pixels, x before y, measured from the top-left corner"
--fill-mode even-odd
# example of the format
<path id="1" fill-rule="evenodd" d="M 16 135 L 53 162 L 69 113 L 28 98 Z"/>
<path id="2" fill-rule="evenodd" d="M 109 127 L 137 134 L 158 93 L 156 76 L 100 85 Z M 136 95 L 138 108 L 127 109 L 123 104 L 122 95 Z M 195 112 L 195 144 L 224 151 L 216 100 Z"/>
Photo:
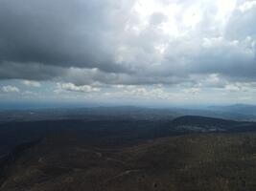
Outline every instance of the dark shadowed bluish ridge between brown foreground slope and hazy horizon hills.
<path id="1" fill-rule="evenodd" d="M 215 117 L 90 117 L 12 121 L 0 123 L 0 156 L 17 144 L 35 141 L 48 134 L 75 134 L 88 144 L 130 144 L 151 138 L 174 137 L 191 133 L 256 131 L 255 122 L 226 120 Z M 154 116 L 155 115 L 155 116 Z M 147 119 L 146 119 L 147 118 Z M 155 118 L 155 119 L 153 119 Z M 111 138 L 111 141 L 109 141 Z M 118 142 L 118 143 L 117 143 Z M 117 143 L 117 144 L 116 144 Z"/>

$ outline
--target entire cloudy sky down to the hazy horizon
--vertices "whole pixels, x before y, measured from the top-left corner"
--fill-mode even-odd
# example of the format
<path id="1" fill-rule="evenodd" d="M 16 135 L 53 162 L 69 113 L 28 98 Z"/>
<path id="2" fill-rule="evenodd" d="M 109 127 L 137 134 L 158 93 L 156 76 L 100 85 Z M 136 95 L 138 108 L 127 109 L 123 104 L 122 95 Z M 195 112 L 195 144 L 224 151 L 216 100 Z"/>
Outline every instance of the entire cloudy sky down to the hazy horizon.
<path id="1" fill-rule="evenodd" d="M 0 0 L 0 101 L 256 101 L 254 0 Z"/>

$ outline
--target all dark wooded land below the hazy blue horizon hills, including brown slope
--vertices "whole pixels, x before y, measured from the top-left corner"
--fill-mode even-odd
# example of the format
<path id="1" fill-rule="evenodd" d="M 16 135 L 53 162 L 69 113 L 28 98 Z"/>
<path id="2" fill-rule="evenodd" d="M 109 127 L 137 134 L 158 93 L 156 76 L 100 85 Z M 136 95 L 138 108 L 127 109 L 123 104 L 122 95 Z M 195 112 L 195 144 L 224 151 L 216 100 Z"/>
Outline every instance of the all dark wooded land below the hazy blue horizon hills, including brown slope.
<path id="1" fill-rule="evenodd" d="M 178 117 L 1 125 L 2 144 L 10 143 L 2 150 L 1 191 L 256 189 L 254 122 Z"/>

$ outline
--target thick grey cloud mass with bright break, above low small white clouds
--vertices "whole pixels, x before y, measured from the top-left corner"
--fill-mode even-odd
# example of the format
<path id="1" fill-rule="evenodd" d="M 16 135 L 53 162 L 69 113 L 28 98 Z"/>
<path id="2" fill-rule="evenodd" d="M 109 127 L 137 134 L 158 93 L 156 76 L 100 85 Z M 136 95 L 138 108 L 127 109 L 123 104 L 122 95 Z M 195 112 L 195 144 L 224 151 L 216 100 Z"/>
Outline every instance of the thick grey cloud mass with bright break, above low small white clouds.
<path id="1" fill-rule="evenodd" d="M 220 74 L 256 81 L 254 1 L 238 0 L 231 13 L 231 1 L 162 0 L 155 1 L 161 9 L 152 4 L 136 10 L 143 2 L 150 5 L 1 0 L 0 78 L 177 84 L 198 83 L 191 75 Z M 175 15 L 164 11 L 170 3 Z"/>

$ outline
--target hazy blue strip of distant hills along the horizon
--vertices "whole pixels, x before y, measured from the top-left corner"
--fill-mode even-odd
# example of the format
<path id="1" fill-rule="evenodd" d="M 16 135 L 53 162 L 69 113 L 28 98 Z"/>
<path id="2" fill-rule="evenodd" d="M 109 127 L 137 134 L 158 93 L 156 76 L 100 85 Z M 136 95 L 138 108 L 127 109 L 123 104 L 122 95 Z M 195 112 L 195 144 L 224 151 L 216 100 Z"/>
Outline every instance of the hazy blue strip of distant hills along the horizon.
<path id="1" fill-rule="evenodd" d="M 26 110 L 0 110 L 0 123 L 7 121 L 35 121 L 56 119 L 137 119 L 168 120 L 182 116 L 219 117 L 230 120 L 256 121 L 256 106 L 230 105 L 202 108 L 142 108 L 118 107 L 77 107 Z"/>

